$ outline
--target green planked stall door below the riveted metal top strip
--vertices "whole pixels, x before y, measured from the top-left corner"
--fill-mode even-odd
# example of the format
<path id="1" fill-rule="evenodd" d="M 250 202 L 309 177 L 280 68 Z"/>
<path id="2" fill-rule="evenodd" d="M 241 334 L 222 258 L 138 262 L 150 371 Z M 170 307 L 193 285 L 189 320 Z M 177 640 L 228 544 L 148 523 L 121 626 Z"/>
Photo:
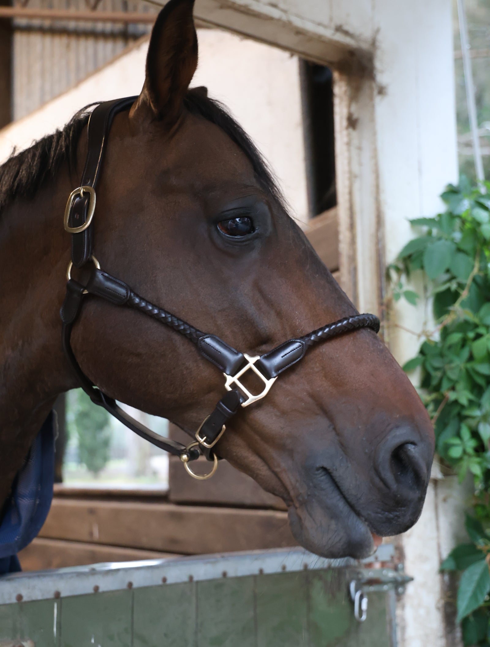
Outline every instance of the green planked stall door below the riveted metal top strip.
<path id="1" fill-rule="evenodd" d="M 5 604 L 0 646 L 394 647 L 394 594 L 370 593 L 360 623 L 349 579 L 348 569 L 224 576 Z"/>

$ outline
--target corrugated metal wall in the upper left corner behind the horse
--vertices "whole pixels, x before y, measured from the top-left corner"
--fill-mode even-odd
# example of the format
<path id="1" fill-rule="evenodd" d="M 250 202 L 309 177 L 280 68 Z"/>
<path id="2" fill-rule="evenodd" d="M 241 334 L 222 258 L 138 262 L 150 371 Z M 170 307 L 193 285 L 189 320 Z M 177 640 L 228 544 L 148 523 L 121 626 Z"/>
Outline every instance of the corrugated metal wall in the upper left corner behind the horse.
<path id="1" fill-rule="evenodd" d="M 30 0 L 28 6 L 90 8 L 87 0 Z M 151 5 L 127 0 L 101 0 L 98 10 L 156 13 Z M 144 24 L 16 20 L 12 118 L 28 115 L 73 87 L 150 30 Z"/>

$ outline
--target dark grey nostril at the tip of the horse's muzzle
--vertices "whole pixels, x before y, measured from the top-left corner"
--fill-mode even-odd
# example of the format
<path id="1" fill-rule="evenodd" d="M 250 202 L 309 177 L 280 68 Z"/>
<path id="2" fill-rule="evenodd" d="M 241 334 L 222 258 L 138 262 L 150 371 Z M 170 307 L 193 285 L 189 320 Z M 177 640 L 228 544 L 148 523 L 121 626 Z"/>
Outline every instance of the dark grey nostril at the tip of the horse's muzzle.
<path id="1" fill-rule="evenodd" d="M 376 470 L 385 485 L 393 491 L 412 490 L 417 494 L 427 485 L 430 452 L 425 443 L 409 429 L 392 432 L 378 448 Z"/>

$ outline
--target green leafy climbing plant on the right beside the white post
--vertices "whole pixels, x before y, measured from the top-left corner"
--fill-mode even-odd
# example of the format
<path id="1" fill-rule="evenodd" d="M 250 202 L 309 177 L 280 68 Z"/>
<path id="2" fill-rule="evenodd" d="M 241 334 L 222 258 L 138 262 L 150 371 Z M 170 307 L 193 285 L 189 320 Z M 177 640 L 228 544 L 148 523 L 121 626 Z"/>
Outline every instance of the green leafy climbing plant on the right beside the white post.
<path id="1" fill-rule="evenodd" d="M 434 422 L 436 450 L 458 474 L 474 479 L 471 543 L 442 564 L 461 571 L 458 622 L 467 646 L 490 647 L 490 183 L 462 178 L 442 194 L 446 209 L 411 221 L 410 240 L 387 273 L 391 298 L 416 303 L 407 289 L 422 279 L 434 322 L 424 325 L 418 355 L 403 367 L 421 371 L 421 397 Z"/>

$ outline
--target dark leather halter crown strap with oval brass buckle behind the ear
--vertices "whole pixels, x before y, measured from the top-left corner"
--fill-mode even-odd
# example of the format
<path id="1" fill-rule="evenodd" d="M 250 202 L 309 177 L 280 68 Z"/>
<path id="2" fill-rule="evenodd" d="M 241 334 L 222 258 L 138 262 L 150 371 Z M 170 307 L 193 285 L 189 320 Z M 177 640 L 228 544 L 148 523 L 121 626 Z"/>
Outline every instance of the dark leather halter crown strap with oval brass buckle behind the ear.
<path id="1" fill-rule="evenodd" d="M 97 186 L 100 176 L 107 134 L 111 128 L 112 120 L 117 113 L 131 107 L 138 97 L 129 96 L 123 99 L 115 99 L 99 104 L 89 118 L 88 126 L 88 152 L 83 173 L 81 174 L 80 186 Z M 68 224 L 70 227 L 80 227 L 87 221 L 89 202 L 91 197 L 85 192 L 83 197 L 76 197 L 70 208 Z M 72 234 L 72 263 L 75 267 L 82 267 L 91 259 L 93 247 L 93 225 L 78 234 Z"/>

